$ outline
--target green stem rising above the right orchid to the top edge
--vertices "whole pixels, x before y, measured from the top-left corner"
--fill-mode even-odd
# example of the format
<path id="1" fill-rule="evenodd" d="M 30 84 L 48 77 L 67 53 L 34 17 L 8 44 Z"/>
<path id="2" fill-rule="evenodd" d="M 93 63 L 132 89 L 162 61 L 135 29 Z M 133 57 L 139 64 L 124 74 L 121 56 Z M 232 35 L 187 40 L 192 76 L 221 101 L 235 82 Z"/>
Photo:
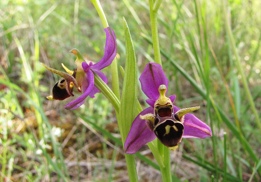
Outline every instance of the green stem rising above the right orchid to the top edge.
<path id="1" fill-rule="evenodd" d="M 159 40 L 158 40 L 158 19 L 157 19 L 157 12 L 161 0 L 156 1 L 154 9 L 154 2 L 153 0 L 149 0 L 150 3 L 150 23 L 151 23 L 151 33 L 152 33 L 152 42 L 153 42 L 153 49 L 154 49 L 154 58 L 155 63 L 161 64 L 161 56 L 160 56 L 160 49 L 159 49 Z"/>

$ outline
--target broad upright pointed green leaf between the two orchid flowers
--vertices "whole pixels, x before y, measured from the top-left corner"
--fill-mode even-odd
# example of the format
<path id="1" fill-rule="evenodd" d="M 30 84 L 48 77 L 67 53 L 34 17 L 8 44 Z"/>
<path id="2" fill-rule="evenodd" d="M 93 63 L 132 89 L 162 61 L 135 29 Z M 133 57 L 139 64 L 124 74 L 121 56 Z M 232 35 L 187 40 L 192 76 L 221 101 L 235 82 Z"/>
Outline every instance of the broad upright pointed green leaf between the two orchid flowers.
<path id="1" fill-rule="evenodd" d="M 120 102 L 119 116 L 122 129 L 123 144 L 130 131 L 130 127 L 137 116 L 137 63 L 134 52 L 134 46 L 130 36 L 129 27 L 123 17 L 123 27 L 126 41 L 126 63 L 123 80 L 122 98 Z"/>

